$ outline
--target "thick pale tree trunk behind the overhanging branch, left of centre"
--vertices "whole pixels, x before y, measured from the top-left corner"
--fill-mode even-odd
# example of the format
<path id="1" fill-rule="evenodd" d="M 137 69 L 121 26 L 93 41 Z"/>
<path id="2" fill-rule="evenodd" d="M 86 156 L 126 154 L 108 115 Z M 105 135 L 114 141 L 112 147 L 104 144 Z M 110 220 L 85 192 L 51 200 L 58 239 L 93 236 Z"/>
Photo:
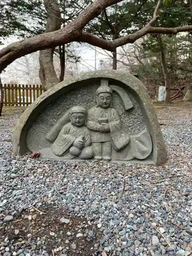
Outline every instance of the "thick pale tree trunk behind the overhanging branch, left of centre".
<path id="1" fill-rule="evenodd" d="M 47 11 L 46 33 L 59 30 L 61 27 L 61 14 L 57 0 L 44 0 Z M 44 90 L 49 90 L 58 83 L 58 78 L 53 66 L 53 53 L 55 48 L 39 52 L 39 78 Z"/>

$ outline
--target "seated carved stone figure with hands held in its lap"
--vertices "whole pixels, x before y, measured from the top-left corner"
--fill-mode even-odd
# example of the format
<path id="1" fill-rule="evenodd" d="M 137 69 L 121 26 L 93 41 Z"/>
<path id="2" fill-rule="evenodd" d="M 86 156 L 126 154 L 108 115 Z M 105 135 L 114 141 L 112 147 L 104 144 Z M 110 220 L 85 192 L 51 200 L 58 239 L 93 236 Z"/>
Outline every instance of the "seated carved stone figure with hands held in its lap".
<path id="1" fill-rule="evenodd" d="M 90 159 L 93 157 L 90 131 L 86 127 L 87 111 L 81 106 L 74 106 L 70 111 L 71 122 L 62 127 L 52 144 L 56 156 L 69 156 Z"/>

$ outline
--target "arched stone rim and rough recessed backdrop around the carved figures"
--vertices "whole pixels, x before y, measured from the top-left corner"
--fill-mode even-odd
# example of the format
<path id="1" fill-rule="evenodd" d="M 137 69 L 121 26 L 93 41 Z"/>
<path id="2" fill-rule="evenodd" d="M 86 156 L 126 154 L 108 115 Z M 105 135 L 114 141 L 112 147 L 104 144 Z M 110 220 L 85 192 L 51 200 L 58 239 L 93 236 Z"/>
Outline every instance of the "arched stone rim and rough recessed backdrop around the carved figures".
<path id="1" fill-rule="evenodd" d="M 39 142 L 39 145 L 43 144 L 45 147 L 48 142 L 45 143 L 43 138 L 47 131 L 71 106 L 80 104 L 86 106 L 87 109 L 91 108 L 95 104 L 94 92 L 100 85 L 101 77 L 108 78 L 110 85 L 123 88 L 134 105 L 133 109 L 125 112 L 120 98 L 116 93 L 114 94 L 113 106 L 118 110 L 122 127 L 131 135 L 135 135 L 147 127 L 153 140 L 150 162 L 164 163 L 166 161 L 165 144 L 150 96 L 137 78 L 129 73 L 118 71 L 84 73 L 78 78 L 58 83 L 37 98 L 17 121 L 13 133 L 13 152 L 24 154 L 29 151 L 26 145 L 29 129 L 33 130 L 35 126 L 39 127 L 39 139 L 35 143 Z M 32 143 L 34 143 L 33 140 Z"/>

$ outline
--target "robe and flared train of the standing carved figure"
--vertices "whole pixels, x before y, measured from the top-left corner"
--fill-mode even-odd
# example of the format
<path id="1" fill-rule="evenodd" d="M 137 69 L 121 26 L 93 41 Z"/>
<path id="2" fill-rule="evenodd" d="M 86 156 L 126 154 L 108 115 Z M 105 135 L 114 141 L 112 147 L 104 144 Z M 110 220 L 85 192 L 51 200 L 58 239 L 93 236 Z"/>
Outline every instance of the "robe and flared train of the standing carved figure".
<path id="1" fill-rule="evenodd" d="M 107 119 L 110 124 L 110 132 L 98 132 L 98 120 Z M 102 109 L 93 106 L 88 111 L 87 127 L 91 132 L 92 142 L 111 141 L 112 159 L 131 160 L 133 158 L 145 159 L 152 152 L 152 140 L 147 130 L 130 136 L 121 129 L 121 122 L 118 112 L 113 109 Z"/>

